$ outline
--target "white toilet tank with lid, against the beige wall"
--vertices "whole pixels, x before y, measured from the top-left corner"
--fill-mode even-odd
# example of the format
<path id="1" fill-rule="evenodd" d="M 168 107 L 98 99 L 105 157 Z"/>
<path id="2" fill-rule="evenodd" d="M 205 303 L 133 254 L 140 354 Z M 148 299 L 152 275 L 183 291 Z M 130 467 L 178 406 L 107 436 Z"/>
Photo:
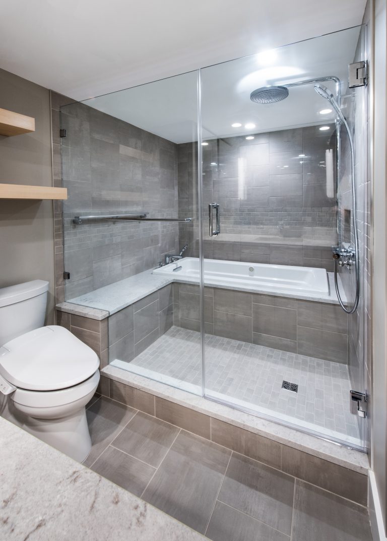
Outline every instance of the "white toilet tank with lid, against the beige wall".
<path id="1" fill-rule="evenodd" d="M 0 288 L 0 346 L 43 327 L 49 282 L 33 280 Z"/>

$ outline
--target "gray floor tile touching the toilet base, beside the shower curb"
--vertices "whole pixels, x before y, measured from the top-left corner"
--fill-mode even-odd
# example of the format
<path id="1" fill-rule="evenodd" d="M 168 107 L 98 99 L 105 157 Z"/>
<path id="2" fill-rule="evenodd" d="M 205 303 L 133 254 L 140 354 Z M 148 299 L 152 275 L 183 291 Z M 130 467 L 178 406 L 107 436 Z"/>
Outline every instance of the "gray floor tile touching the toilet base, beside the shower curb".
<path id="1" fill-rule="evenodd" d="M 85 466 L 93 464 L 135 413 L 133 408 L 106 397 L 101 397 L 87 409 L 92 447 L 83 463 Z"/>

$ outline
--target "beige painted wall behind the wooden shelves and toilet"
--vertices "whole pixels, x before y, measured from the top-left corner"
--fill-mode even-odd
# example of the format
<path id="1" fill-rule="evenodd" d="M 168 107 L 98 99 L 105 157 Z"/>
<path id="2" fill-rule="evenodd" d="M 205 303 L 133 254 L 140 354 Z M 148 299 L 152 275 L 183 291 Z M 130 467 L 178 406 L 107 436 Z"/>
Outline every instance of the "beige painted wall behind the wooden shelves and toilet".
<path id="1" fill-rule="evenodd" d="M 0 108 L 35 117 L 36 131 L 0 135 L 0 183 L 53 185 L 49 91 L 0 69 Z M 0 287 L 50 282 L 48 323 L 54 322 L 52 201 L 0 200 Z"/>

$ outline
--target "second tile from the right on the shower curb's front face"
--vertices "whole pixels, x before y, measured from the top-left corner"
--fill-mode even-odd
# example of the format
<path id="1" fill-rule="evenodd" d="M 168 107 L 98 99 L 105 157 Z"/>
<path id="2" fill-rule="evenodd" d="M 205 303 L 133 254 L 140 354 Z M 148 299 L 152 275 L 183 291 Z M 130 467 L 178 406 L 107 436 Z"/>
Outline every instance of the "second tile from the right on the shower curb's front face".
<path id="1" fill-rule="evenodd" d="M 211 418 L 211 439 L 237 453 L 281 467 L 281 445 L 248 430 Z"/>

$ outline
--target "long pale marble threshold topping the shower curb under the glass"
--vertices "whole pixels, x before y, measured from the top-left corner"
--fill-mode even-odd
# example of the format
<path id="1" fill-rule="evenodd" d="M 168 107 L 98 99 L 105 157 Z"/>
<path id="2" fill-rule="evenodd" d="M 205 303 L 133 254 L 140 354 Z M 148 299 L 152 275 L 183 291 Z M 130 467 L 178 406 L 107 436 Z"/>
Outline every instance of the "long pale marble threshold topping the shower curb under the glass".
<path id="1" fill-rule="evenodd" d="M 169 400 L 180 406 L 209 415 L 225 423 L 244 428 L 268 439 L 278 441 L 299 451 L 328 460 L 333 464 L 344 466 L 349 470 L 368 475 L 370 468 L 367 454 L 336 444 L 332 441 L 301 432 L 295 428 L 274 423 L 257 415 L 236 410 L 233 407 L 219 404 L 191 392 L 150 380 L 141 375 L 117 368 L 111 364 L 101 370 L 101 375 L 141 391 L 154 394 L 156 397 Z"/>

